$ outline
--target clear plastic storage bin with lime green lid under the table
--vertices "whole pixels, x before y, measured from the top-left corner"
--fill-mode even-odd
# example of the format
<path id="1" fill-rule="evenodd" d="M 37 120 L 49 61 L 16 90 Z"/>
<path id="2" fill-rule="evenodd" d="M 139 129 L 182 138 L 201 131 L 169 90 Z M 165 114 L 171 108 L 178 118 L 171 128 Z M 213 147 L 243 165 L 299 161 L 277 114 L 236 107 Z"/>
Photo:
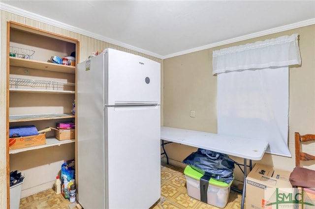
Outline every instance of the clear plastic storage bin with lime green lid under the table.
<path id="1" fill-rule="evenodd" d="M 184 174 L 186 176 L 188 195 L 200 200 L 200 178 L 203 175 L 189 165 L 185 168 Z M 219 208 L 224 208 L 230 194 L 231 184 L 232 182 L 228 184 L 210 179 L 207 190 L 207 203 Z"/>

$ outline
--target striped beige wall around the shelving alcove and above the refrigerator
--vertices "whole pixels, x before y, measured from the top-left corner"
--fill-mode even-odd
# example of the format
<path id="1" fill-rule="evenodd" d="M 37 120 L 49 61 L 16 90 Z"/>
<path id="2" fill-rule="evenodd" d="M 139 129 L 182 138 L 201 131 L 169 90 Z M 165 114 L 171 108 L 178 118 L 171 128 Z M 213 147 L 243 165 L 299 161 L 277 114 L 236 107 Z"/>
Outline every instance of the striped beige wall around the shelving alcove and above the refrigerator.
<path id="1" fill-rule="evenodd" d="M 149 59 L 155 60 L 159 63 L 162 63 L 161 59 L 158 59 L 156 57 L 152 57 L 143 53 L 134 52 L 113 44 L 109 44 L 100 40 L 96 40 L 91 37 L 87 37 L 69 30 L 65 30 L 59 27 L 50 26 L 48 24 L 43 24 L 38 21 L 34 21 L 25 17 L 21 17 L 19 15 L 15 15 L 9 12 L 5 12 L 0 10 L 0 16 L 1 16 L 1 22 L 0 22 L 0 28 L 1 28 L 1 50 L 0 50 L 0 209 L 6 208 L 6 22 L 7 21 L 14 21 L 17 23 L 25 24 L 28 26 L 36 27 L 39 29 L 43 29 L 49 32 L 58 33 L 70 38 L 74 38 L 79 40 L 80 42 L 80 61 L 84 61 L 88 58 L 89 55 L 92 54 L 92 52 L 103 50 L 108 47 L 113 47 L 118 50 L 122 50 L 125 52 L 130 52 L 134 54 L 138 54 L 144 57 L 147 57 Z M 162 68 L 162 64 L 161 64 Z M 162 80 L 162 71 L 161 71 L 161 80 Z M 162 95 L 161 95 L 162 97 Z M 78 107 L 79 108 L 79 107 Z M 161 107 L 162 109 L 162 107 Z M 162 119 L 161 119 L 162 121 Z M 60 147 L 52 147 L 52 148 L 45 148 L 44 150 L 37 150 L 37 151 L 28 151 L 20 154 L 14 154 L 14 156 L 11 156 L 10 160 L 10 166 L 12 169 L 20 170 L 25 169 L 28 173 L 32 172 L 38 172 L 40 169 L 58 169 L 59 166 L 61 166 L 61 162 L 63 159 L 60 159 L 60 157 L 53 157 L 49 159 L 41 159 L 40 162 L 32 162 L 32 159 L 30 159 L 30 155 L 33 157 L 40 157 L 44 155 L 44 152 L 51 152 L 54 155 L 59 155 L 58 153 L 65 153 L 69 149 L 73 150 L 73 145 L 64 145 Z M 24 161 L 19 161 L 18 158 L 25 159 Z M 67 159 L 67 157 L 66 157 Z M 53 161 L 52 161 L 53 160 Z M 53 162 L 53 163 L 52 163 Z M 21 166 L 18 166 L 20 163 Z M 27 163 L 26 165 L 22 166 L 23 164 Z M 51 176 L 51 179 L 40 179 L 40 182 L 53 182 L 56 177 Z M 23 183 L 24 184 L 24 183 Z M 30 182 L 25 183 L 25 187 L 32 187 L 32 185 L 29 185 Z M 28 193 L 28 191 L 26 191 Z"/>

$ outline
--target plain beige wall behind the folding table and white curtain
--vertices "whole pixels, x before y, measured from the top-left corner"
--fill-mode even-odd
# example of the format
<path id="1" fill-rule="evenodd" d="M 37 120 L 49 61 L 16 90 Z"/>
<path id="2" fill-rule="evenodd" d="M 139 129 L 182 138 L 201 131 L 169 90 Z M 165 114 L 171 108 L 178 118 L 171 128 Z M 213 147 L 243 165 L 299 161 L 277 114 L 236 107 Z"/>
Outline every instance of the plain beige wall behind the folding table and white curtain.
<path id="1" fill-rule="evenodd" d="M 291 66 L 289 69 L 289 149 L 293 157 L 265 154 L 260 161 L 292 170 L 295 166 L 294 132 L 315 133 L 315 25 L 164 59 L 163 125 L 216 133 L 217 77 L 212 75 L 212 52 L 293 33 L 299 34 L 302 58 L 301 66 Z M 195 110 L 195 118 L 189 116 L 190 110 Z M 180 166 L 185 166 L 182 160 L 196 151 L 196 148 L 180 144 L 165 147 L 171 158 L 170 163 Z M 315 146 L 310 151 L 314 154 Z M 240 158 L 232 158 L 243 162 Z M 236 179 L 242 180 L 238 168 L 235 173 Z"/>

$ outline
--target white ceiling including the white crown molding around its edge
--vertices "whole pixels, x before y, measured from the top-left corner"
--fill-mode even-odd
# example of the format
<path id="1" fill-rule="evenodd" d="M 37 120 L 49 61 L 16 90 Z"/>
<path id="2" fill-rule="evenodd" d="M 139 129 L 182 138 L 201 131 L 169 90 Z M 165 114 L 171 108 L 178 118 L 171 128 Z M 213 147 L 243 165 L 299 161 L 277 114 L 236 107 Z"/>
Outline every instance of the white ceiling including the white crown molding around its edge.
<path id="1" fill-rule="evenodd" d="M 158 58 L 315 24 L 315 0 L 0 0 L 0 9 Z"/>

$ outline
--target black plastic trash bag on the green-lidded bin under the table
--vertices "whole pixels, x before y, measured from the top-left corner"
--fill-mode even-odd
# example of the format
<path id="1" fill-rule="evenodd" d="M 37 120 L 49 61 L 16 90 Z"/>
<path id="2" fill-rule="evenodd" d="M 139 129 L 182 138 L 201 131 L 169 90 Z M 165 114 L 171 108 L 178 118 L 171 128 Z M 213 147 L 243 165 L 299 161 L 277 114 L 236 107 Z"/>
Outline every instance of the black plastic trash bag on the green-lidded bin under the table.
<path id="1" fill-rule="evenodd" d="M 199 173 L 224 183 L 233 181 L 235 161 L 225 154 L 210 150 L 198 149 L 191 153 L 183 163 L 190 165 Z"/>

